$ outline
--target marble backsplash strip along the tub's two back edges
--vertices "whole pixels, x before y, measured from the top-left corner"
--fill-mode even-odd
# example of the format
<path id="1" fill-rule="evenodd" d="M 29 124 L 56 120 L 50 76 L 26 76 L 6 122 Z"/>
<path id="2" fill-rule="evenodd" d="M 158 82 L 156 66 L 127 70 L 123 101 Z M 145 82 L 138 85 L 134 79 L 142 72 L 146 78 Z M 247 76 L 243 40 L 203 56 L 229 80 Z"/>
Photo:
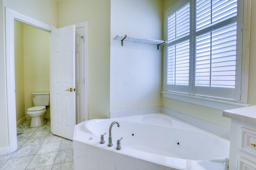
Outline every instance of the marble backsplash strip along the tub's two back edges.
<path id="1" fill-rule="evenodd" d="M 178 113 L 176 111 L 172 111 L 170 109 L 166 109 L 164 107 L 152 107 L 152 108 L 145 108 L 145 109 L 132 109 L 132 110 L 123 110 L 123 111 L 111 111 L 110 118 L 117 118 L 117 117 L 126 117 L 132 115 L 144 115 L 150 113 L 164 113 L 176 119 L 179 119 L 183 122 L 186 122 L 190 125 L 196 126 L 200 129 L 213 133 L 219 137 L 224 139 L 230 140 L 230 130 L 225 129 L 223 127 L 219 127 L 217 125 L 213 125 L 211 123 L 196 119 L 194 117 L 190 117 L 184 115 L 182 113 Z"/>

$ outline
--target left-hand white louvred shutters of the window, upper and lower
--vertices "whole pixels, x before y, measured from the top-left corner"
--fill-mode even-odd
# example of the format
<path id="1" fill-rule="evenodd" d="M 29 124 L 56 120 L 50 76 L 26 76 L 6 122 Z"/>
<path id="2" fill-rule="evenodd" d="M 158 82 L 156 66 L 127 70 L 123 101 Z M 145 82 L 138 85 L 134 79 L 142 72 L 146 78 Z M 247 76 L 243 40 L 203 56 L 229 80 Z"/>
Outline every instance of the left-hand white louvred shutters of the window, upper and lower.
<path id="1" fill-rule="evenodd" d="M 167 84 L 170 87 L 168 90 L 188 92 L 190 3 L 176 10 L 167 20 Z"/>

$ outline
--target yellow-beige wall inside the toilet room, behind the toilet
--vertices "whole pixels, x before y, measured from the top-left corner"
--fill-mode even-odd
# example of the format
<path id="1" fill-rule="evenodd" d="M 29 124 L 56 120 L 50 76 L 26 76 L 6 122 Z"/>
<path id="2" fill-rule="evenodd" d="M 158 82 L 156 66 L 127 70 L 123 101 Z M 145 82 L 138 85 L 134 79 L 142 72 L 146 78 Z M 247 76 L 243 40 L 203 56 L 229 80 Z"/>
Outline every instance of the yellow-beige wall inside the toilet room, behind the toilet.
<path id="1" fill-rule="evenodd" d="M 15 94 L 16 121 L 30 117 L 32 92 L 50 92 L 49 33 L 15 21 Z M 50 106 L 45 118 L 50 118 Z"/>

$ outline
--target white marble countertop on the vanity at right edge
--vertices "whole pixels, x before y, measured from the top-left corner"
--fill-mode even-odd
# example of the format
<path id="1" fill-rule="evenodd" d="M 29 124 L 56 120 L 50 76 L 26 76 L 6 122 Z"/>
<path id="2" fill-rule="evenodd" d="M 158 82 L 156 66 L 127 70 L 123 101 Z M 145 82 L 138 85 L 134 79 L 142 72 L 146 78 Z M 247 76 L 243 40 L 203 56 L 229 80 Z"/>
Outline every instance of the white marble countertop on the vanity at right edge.
<path id="1" fill-rule="evenodd" d="M 222 115 L 224 117 L 256 125 L 256 106 L 224 110 Z"/>

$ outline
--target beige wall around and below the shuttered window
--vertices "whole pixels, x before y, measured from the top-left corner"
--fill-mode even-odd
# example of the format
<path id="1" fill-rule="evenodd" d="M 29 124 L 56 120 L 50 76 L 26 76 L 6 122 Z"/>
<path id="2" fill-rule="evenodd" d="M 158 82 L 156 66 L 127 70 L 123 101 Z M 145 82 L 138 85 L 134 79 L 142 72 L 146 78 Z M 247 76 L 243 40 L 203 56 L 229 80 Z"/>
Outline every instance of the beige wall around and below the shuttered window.
<path id="1" fill-rule="evenodd" d="M 164 0 L 164 11 L 168 9 L 176 0 Z M 249 92 L 248 92 L 248 104 L 256 105 L 256 33 L 253 31 L 256 28 L 256 11 L 253 10 L 256 7 L 256 1 L 252 0 L 252 18 L 251 18 L 251 46 L 250 46 L 250 74 L 249 74 Z M 255 43 L 254 43 L 255 41 Z M 212 109 L 208 107 L 198 106 L 195 104 L 189 104 L 186 102 L 180 102 L 162 97 L 162 107 L 172 109 L 174 111 L 195 117 L 197 119 L 230 129 L 230 119 L 222 117 L 222 110 Z"/>

